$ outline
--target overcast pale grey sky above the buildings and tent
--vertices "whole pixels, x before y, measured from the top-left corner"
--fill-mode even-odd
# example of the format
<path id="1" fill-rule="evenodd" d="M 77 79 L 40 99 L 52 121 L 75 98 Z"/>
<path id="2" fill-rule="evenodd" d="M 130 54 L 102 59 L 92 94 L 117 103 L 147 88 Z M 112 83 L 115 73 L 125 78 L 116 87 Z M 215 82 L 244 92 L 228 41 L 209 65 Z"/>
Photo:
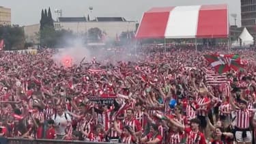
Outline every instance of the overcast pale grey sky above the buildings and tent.
<path id="1" fill-rule="evenodd" d="M 140 21 L 143 12 L 152 7 L 177 5 L 223 4 L 229 14 L 237 14 L 240 25 L 240 0 L 1 0 L 0 5 L 12 9 L 12 24 L 33 25 L 40 21 L 41 10 L 51 8 L 53 18 L 55 9 L 61 9 L 63 16 L 87 16 L 93 7 L 92 16 L 122 16 L 126 20 Z M 234 19 L 229 18 L 231 25 Z"/>

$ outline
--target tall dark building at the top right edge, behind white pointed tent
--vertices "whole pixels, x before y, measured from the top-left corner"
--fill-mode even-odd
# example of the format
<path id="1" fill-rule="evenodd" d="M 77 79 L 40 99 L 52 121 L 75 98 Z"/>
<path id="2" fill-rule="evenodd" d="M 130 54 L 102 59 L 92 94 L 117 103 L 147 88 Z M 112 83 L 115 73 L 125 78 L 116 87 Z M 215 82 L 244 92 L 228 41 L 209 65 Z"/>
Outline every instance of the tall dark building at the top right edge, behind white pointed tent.
<path id="1" fill-rule="evenodd" d="M 256 0 L 241 0 L 241 24 L 246 27 L 249 33 L 256 37 L 255 33 L 256 21 Z"/>

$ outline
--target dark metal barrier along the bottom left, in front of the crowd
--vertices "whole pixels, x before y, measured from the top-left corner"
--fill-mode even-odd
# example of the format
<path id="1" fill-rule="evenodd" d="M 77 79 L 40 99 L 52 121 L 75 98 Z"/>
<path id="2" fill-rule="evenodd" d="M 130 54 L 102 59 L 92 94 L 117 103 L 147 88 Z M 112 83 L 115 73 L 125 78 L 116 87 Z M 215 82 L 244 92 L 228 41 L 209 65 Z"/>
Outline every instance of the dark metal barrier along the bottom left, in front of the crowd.
<path id="1" fill-rule="evenodd" d="M 111 144 L 103 142 L 90 142 L 90 141 L 66 141 L 66 140 L 53 140 L 53 139 L 18 139 L 8 138 L 8 144 Z"/>

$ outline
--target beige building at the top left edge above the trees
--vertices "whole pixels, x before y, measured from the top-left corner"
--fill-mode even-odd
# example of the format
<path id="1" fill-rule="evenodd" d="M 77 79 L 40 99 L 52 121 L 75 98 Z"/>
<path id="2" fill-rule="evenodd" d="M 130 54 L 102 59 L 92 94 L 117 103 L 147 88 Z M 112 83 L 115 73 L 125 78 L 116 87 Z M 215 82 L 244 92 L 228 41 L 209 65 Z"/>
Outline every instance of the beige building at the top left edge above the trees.
<path id="1" fill-rule="evenodd" d="M 0 6 L 0 25 L 11 24 L 11 9 Z"/>

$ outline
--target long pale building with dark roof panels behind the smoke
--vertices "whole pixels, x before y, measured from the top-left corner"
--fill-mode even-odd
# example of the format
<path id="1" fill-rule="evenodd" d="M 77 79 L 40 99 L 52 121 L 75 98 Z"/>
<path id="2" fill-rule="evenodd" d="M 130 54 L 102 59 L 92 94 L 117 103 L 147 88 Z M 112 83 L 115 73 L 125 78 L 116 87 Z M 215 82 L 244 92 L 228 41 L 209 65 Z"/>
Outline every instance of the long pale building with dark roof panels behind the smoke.
<path id="1" fill-rule="evenodd" d="M 86 17 L 59 17 L 55 22 L 55 29 L 66 29 L 78 34 L 94 27 L 104 31 L 107 38 L 116 38 L 123 31 L 136 31 L 136 22 L 123 17 L 96 17 L 94 20 L 87 20 Z"/>

